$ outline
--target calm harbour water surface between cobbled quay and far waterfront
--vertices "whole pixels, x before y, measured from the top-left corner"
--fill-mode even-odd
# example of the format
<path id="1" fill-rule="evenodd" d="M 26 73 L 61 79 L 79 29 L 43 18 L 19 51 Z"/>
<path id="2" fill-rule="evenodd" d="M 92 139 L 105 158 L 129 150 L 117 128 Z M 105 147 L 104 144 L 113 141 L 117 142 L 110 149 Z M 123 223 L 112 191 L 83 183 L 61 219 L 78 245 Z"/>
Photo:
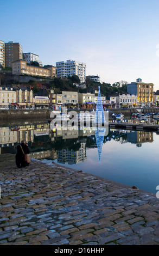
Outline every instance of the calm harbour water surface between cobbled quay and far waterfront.
<path id="1" fill-rule="evenodd" d="M 158 143 L 155 132 L 108 130 L 103 143 L 90 127 L 62 131 L 39 121 L 0 127 L 1 154 L 16 154 L 16 146 L 25 139 L 30 157 L 53 161 L 103 178 L 156 193 L 159 185 Z M 101 147 L 102 146 L 102 147 Z M 100 151 L 100 161 L 99 154 Z"/>

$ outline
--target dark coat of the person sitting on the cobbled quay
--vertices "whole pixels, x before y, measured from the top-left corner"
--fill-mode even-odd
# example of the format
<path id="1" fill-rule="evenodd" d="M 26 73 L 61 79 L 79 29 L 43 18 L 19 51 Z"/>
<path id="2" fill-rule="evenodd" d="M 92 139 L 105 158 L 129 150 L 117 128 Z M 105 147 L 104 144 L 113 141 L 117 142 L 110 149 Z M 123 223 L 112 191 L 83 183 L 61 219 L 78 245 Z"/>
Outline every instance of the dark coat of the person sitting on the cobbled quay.
<path id="1" fill-rule="evenodd" d="M 30 153 L 30 150 L 29 150 L 29 148 L 26 144 L 22 143 L 21 146 L 24 150 L 24 154 L 29 154 Z M 22 152 L 21 146 L 20 145 L 17 146 L 17 154 L 16 154 L 16 157 L 15 157 L 16 158 L 16 165 L 19 168 L 29 165 L 29 163 L 24 162 L 24 154 Z"/>

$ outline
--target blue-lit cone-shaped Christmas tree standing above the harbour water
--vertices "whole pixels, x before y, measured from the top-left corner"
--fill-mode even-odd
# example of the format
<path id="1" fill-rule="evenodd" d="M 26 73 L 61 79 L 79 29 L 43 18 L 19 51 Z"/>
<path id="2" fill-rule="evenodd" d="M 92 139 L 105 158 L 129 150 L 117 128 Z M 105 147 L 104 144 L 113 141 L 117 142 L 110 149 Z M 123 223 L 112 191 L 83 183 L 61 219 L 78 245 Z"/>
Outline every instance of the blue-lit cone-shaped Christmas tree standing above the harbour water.
<path id="1" fill-rule="evenodd" d="M 98 86 L 98 98 L 97 98 L 96 115 L 94 118 L 94 122 L 98 124 L 105 123 L 103 104 L 102 104 L 101 95 L 100 95 L 100 86 Z"/>

